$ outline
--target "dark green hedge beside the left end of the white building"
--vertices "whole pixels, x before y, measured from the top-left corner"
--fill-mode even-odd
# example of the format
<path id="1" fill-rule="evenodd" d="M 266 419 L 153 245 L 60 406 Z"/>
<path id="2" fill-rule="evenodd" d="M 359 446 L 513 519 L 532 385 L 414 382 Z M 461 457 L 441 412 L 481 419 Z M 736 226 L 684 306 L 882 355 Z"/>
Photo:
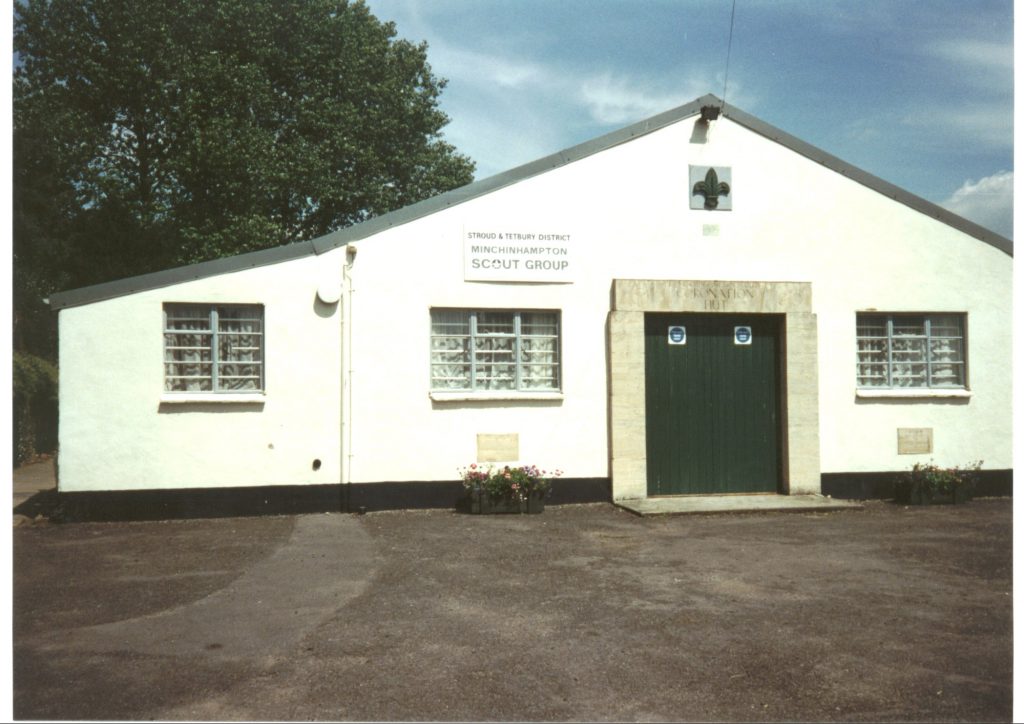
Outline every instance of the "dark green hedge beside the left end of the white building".
<path id="1" fill-rule="evenodd" d="M 14 464 L 39 453 L 52 453 L 57 443 L 57 369 L 42 357 L 14 352 L 13 443 Z"/>

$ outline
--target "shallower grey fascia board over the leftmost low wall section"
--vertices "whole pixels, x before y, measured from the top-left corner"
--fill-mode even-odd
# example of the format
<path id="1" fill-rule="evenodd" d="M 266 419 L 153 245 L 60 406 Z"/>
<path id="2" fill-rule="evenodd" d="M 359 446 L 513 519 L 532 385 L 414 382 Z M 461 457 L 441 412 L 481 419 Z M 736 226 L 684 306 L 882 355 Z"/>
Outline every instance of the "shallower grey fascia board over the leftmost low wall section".
<path id="1" fill-rule="evenodd" d="M 227 256 L 222 259 L 212 259 L 211 261 L 203 261 L 198 264 L 189 264 L 188 266 L 178 266 L 173 269 L 129 276 L 91 287 L 82 287 L 80 289 L 51 294 L 50 309 L 57 311 L 67 307 L 114 299 L 115 297 L 122 297 L 136 292 L 171 287 L 183 282 L 194 282 L 208 276 L 226 274 L 257 266 L 267 266 L 281 261 L 309 256 L 312 253 L 312 242 L 295 242 L 294 244 Z"/>

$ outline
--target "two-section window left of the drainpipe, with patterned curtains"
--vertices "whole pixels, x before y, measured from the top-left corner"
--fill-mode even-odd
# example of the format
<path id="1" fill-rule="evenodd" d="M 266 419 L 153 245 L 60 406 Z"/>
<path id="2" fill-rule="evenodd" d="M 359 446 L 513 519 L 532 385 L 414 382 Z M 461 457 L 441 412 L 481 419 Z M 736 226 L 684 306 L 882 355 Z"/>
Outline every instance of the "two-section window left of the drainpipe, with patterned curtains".
<path id="1" fill-rule="evenodd" d="M 263 307 L 165 304 L 164 390 L 263 389 Z"/>

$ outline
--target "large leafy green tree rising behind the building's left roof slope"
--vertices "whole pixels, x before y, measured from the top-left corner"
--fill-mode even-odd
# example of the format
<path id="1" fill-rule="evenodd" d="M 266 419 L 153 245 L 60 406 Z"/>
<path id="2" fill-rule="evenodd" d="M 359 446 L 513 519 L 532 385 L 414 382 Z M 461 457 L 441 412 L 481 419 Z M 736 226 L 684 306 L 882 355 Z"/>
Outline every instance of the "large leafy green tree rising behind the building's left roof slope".
<path id="1" fill-rule="evenodd" d="M 472 180 L 441 136 L 426 44 L 361 0 L 29 0 L 14 50 L 22 314 Z"/>

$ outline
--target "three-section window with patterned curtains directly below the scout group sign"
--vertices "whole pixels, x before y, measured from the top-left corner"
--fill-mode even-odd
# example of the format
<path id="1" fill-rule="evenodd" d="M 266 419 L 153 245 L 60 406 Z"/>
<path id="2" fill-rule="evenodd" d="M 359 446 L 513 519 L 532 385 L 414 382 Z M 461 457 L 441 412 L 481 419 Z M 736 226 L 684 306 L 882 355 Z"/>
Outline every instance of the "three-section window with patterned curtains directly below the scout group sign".
<path id="1" fill-rule="evenodd" d="M 557 311 L 433 309 L 434 390 L 558 391 Z"/>

